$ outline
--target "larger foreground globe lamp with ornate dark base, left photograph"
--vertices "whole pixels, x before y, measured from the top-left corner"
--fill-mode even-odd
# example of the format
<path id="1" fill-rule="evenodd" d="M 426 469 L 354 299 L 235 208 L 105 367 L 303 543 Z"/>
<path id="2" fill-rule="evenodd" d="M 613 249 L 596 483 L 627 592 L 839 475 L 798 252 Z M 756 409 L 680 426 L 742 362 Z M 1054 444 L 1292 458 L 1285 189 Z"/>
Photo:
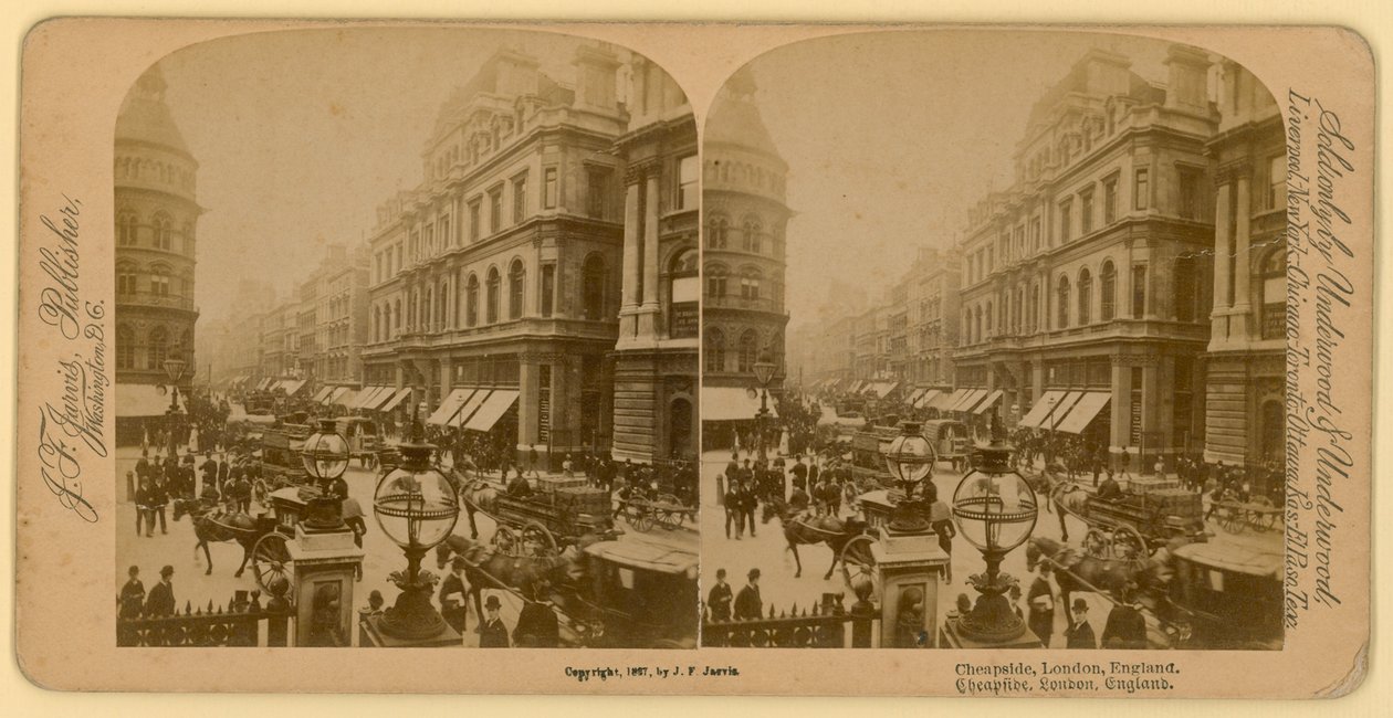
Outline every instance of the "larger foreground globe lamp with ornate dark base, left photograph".
<path id="1" fill-rule="evenodd" d="M 444 472 L 430 463 L 430 444 L 403 444 L 403 461 L 382 476 L 372 511 L 382 533 L 407 555 L 407 571 L 390 579 L 401 589 L 396 605 L 383 612 L 383 633 L 405 640 L 439 636 L 446 623 L 430 605 L 436 576 L 421 571 L 426 551 L 444 541 L 460 518 L 458 494 Z"/>

